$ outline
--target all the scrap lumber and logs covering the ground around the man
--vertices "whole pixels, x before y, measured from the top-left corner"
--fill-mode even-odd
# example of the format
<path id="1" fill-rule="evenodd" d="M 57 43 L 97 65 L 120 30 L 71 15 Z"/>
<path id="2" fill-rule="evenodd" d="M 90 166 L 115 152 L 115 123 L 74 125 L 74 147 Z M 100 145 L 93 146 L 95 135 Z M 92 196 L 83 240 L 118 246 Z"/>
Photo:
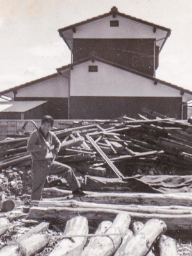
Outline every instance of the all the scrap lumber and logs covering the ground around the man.
<path id="1" fill-rule="evenodd" d="M 0 255 L 157 256 L 166 246 L 191 255 L 181 236 L 167 232 L 192 229 L 192 126 L 140 118 L 63 122 L 54 130 L 61 141 L 57 160 L 74 169 L 86 193 L 81 198 L 72 196 L 66 180 L 50 175 L 43 200 L 30 202 L 29 132 L 0 141 Z M 15 210 L 6 211 L 6 201 Z M 39 221 L 46 226 L 42 233 Z"/>

